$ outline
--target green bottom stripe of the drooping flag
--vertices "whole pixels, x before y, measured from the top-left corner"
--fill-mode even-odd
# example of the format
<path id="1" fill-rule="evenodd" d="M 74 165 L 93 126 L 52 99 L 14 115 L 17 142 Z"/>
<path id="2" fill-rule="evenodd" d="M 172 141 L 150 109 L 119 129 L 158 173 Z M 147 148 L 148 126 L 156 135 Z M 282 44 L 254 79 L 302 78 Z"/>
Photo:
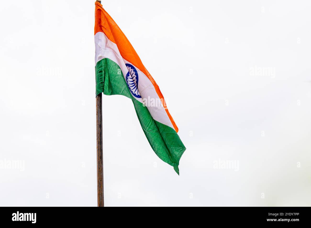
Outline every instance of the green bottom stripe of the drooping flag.
<path id="1" fill-rule="evenodd" d="M 146 106 L 137 101 L 131 94 L 118 64 L 105 58 L 97 62 L 96 96 L 103 92 L 105 95 L 123 95 L 132 99 L 137 117 L 142 126 L 151 148 L 156 155 L 174 167 L 179 175 L 179 160 L 186 150 L 176 131 L 154 120 Z"/>

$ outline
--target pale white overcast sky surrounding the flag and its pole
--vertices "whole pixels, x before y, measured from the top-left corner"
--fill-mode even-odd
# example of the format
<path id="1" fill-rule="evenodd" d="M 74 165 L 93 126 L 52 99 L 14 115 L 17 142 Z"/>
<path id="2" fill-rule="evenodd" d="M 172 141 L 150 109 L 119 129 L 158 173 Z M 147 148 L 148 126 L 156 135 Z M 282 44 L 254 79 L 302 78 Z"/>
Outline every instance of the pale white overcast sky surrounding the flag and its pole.
<path id="1" fill-rule="evenodd" d="M 97 205 L 94 2 L 1 3 L 0 206 Z M 102 3 L 187 148 L 178 176 L 104 96 L 106 206 L 311 206 L 310 1 Z"/>

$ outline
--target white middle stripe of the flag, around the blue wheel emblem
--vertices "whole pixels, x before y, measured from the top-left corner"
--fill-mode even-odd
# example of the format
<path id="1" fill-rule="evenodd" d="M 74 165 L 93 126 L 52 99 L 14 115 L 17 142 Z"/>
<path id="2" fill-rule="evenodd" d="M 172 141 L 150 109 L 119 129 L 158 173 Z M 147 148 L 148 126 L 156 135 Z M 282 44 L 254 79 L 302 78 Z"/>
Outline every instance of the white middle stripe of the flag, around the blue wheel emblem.
<path id="1" fill-rule="evenodd" d="M 125 64 L 129 63 L 133 65 L 122 58 L 120 51 L 114 42 L 111 42 L 103 32 L 98 32 L 95 34 L 95 65 L 98 61 L 104 58 L 109 58 L 117 63 L 121 68 L 124 78 L 128 73 L 128 68 Z M 136 68 L 138 73 L 138 91 L 142 98 L 133 97 L 141 103 L 143 102 L 143 98 L 150 99 L 150 101 L 153 99 L 153 101 L 157 103 L 160 97 L 156 93 L 155 87 L 142 71 L 140 71 L 135 65 L 133 66 Z M 147 108 L 153 119 L 174 129 L 173 124 L 162 105 L 152 107 L 147 106 Z"/>

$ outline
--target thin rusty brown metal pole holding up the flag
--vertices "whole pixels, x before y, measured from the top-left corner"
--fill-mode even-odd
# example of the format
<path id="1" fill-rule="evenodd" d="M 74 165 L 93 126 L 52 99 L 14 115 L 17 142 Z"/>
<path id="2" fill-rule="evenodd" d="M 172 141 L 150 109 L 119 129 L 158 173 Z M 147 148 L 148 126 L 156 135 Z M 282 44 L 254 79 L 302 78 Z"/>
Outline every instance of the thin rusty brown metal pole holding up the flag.
<path id="1" fill-rule="evenodd" d="M 101 1 L 96 1 L 101 3 Z M 104 207 L 102 93 L 96 96 L 97 207 Z"/>

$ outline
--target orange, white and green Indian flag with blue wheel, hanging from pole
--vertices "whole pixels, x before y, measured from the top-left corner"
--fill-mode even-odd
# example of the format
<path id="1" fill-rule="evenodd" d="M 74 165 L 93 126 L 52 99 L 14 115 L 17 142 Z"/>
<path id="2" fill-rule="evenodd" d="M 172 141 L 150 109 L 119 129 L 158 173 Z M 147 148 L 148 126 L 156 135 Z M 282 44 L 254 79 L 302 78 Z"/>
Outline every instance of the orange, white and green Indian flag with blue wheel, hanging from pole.
<path id="1" fill-rule="evenodd" d="M 103 92 L 130 98 L 152 149 L 179 174 L 179 160 L 186 148 L 159 86 L 99 2 L 95 2 L 94 30 L 96 96 Z"/>

